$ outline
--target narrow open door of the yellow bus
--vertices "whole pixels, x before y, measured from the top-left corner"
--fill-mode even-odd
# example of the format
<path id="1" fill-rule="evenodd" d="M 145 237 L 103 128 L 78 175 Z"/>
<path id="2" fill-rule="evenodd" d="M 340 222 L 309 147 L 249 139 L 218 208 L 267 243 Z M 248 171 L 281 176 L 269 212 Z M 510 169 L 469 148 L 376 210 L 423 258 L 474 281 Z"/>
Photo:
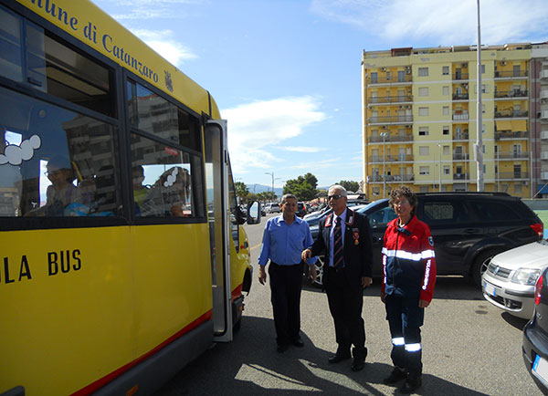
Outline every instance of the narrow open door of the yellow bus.
<path id="1" fill-rule="evenodd" d="M 227 121 L 208 120 L 205 124 L 204 141 L 214 339 L 230 341 L 232 340 L 232 295 L 230 290 Z"/>

